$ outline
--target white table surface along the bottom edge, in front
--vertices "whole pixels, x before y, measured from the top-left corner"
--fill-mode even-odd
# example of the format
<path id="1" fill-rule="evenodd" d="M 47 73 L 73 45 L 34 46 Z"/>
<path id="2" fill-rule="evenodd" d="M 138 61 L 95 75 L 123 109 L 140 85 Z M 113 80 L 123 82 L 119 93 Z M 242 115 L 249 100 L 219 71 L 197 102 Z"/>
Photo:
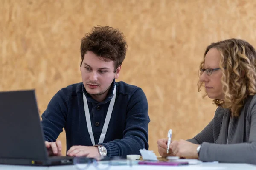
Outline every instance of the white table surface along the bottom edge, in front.
<path id="1" fill-rule="evenodd" d="M 99 167 L 100 168 L 100 167 Z M 0 170 L 78 170 L 75 165 L 34 167 L 17 165 L 0 165 Z M 90 165 L 86 170 L 97 170 Z M 175 166 L 152 166 L 152 165 L 133 165 L 111 166 L 108 170 L 256 170 L 255 165 L 251 164 L 228 164 L 228 163 L 203 163 L 197 165 Z"/>

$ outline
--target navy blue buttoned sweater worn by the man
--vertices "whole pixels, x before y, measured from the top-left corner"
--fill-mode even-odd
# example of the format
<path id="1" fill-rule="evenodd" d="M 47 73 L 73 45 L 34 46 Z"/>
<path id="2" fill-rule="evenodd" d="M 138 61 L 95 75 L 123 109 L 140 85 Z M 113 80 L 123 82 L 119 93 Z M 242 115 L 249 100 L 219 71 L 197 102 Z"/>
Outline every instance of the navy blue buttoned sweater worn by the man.
<path id="1" fill-rule="evenodd" d="M 125 82 L 113 81 L 106 99 L 97 102 L 84 88 L 83 83 L 62 88 L 50 100 L 42 114 L 45 140 L 55 142 L 64 128 L 67 150 L 74 145 L 93 146 L 84 113 L 83 94 L 87 98 L 95 144 L 99 142 L 108 106 L 116 84 L 116 101 L 103 143 L 107 156 L 140 154 L 148 149 L 148 102 L 141 88 Z M 97 122 L 97 123 L 96 123 Z"/>

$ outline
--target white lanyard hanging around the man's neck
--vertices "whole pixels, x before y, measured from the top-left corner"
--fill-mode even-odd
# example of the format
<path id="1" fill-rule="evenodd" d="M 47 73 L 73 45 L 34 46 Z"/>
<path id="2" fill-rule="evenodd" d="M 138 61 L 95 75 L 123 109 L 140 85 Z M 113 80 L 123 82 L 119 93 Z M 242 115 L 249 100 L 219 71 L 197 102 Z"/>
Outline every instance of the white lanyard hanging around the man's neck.
<path id="1" fill-rule="evenodd" d="M 99 143 L 103 143 L 106 132 L 107 132 L 107 129 L 108 129 L 108 124 L 109 124 L 111 114 L 112 114 L 112 111 L 113 111 L 113 107 L 114 107 L 114 104 L 115 104 L 115 100 L 116 100 L 116 85 L 115 85 L 113 94 L 114 94 L 114 96 L 112 97 L 112 99 L 110 101 L 110 104 L 108 106 L 108 112 L 107 112 L 107 116 L 106 116 L 106 119 L 105 119 L 105 122 L 104 122 L 104 125 L 103 125 L 102 133 L 99 137 Z M 92 144 L 94 146 L 95 141 L 94 141 L 94 136 L 93 136 L 92 124 L 91 124 L 91 121 L 90 121 L 90 112 L 89 112 L 88 103 L 87 103 L 87 99 L 86 99 L 85 95 L 84 95 L 83 99 L 84 99 L 84 112 L 85 112 L 85 118 L 86 118 L 86 123 L 87 123 L 87 129 L 88 129 Z"/>

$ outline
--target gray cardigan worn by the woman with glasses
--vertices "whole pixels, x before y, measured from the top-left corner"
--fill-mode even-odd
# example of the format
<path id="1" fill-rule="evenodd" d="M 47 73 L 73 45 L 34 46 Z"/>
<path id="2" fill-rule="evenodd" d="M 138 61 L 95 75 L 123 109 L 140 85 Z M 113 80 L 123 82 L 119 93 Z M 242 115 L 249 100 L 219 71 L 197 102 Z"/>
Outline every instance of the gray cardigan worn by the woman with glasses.
<path id="1" fill-rule="evenodd" d="M 245 108 L 238 119 L 232 117 L 229 123 L 230 111 L 218 107 L 212 121 L 188 140 L 201 144 L 201 161 L 256 164 L 256 95 L 248 106 L 246 119 Z"/>

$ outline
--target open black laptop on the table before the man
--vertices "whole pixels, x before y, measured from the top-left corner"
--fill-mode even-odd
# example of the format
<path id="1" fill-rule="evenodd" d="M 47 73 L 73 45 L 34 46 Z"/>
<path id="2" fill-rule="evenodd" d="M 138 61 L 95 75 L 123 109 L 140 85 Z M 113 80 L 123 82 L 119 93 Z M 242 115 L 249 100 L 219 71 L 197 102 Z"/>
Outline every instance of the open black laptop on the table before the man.
<path id="1" fill-rule="evenodd" d="M 0 164 L 73 164 L 68 156 L 48 156 L 35 90 L 0 92 Z"/>

